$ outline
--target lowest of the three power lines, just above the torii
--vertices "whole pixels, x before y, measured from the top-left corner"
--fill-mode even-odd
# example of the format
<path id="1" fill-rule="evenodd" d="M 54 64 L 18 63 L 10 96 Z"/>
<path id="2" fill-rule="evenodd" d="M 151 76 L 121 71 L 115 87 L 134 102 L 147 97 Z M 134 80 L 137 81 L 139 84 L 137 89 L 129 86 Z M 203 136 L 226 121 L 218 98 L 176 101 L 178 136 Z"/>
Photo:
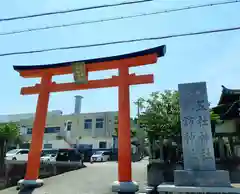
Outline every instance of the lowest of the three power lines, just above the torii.
<path id="1" fill-rule="evenodd" d="M 213 33 L 227 32 L 227 31 L 236 31 L 236 30 L 240 30 L 240 26 L 233 27 L 233 28 L 222 28 L 222 29 L 191 32 L 191 33 L 173 34 L 173 35 L 159 36 L 159 37 L 118 40 L 118 41 L 113 41 L 113 42 L 105 42 L 105 43 L 97 43 L 97 44 L 87 44 L 87 45 L 58 47 L 58 48 L 49 48 L 49 49 L 40 49 L 40 50 L 31 50 L 31 51 L 1 53 L 0 57 L 10 56 L 10 55 L 25 55 L 25 54 L 33 54 L 33 53 L 42 53 L 42 52 L 50 52 L 50 51 L 57 51 L 57 50 L 70 50 L 70 49 L 79 49 L 79 48 L 99 47 L 99 46 L 107 46 L 107 45 L 113 45 L 113 44 L 123 44 L 123 43 L 132 43 L 132 42 L 150 41 L 150 40 L 161 40 L 161 39 L 177 38 L 177 37 L 184 37 L 184 36 L 195 36 L 195 35 L 201 35 L 201 34 L 213 34 Z"/>

